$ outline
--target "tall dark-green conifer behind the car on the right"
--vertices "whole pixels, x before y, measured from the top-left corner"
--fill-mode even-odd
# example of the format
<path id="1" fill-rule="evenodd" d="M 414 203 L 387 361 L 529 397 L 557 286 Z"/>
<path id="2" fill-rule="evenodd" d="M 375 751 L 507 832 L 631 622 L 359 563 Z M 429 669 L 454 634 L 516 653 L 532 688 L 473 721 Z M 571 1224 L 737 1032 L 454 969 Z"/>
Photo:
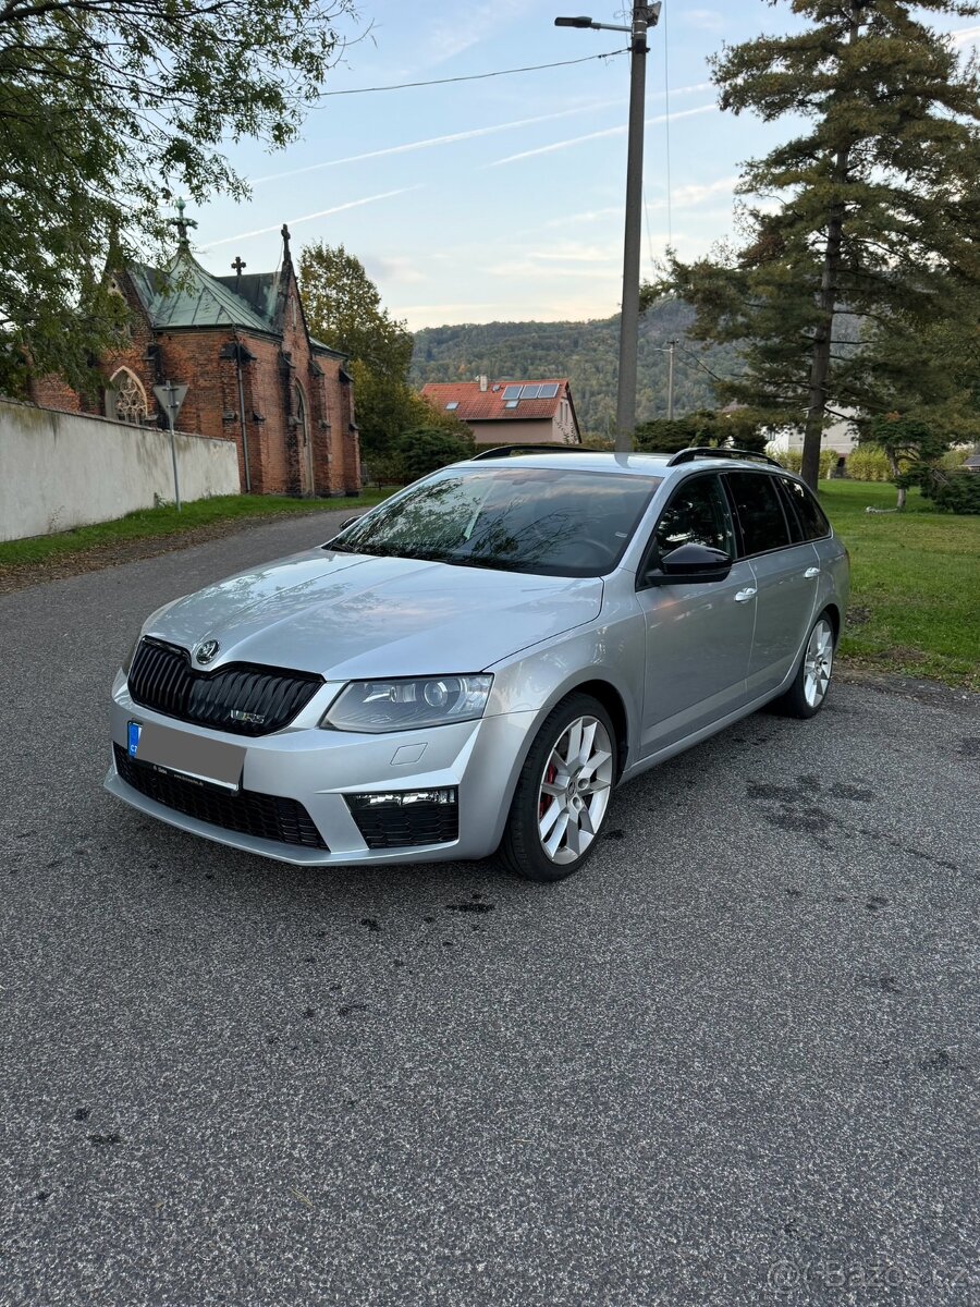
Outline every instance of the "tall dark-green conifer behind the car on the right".
<path id="1" fill-rule="evenodd" d="M 774 426 L 806 414 L 804 477 L 815 485 L 831 404 L 861 406 L 848 318 L 925 324 L 945 316 L 942 288 L 980 285 L 980 76 L 947 37 L 902 0 L 792 0 L 806 26 L 727 47 L 712 61 L 721 107 L 764 122 L 804 119 L 801 133 L 745 167 L 741 246 L 669 261 L 645 288 L 694 305 L 693 336 L 740 342 L 742 378 L 721 392 L 766 410 Z M 972 0 L 919 0 L 917 10 L 973 16 Z M 772 199 L 776 207 L 772 208 Z"/>

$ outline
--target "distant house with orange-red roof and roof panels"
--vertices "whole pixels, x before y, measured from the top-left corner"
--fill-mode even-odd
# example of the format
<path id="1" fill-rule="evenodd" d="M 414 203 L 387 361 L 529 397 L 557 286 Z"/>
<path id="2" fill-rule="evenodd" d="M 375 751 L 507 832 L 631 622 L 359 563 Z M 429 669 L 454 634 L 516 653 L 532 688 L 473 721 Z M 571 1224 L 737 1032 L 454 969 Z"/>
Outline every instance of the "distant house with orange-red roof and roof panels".
<path id="1" fill-rule="evenodd" d="M 477 444 L 581 444 L 566 376 L 544 382 L 429 382 L 422 397 L 465 422 Z"/>

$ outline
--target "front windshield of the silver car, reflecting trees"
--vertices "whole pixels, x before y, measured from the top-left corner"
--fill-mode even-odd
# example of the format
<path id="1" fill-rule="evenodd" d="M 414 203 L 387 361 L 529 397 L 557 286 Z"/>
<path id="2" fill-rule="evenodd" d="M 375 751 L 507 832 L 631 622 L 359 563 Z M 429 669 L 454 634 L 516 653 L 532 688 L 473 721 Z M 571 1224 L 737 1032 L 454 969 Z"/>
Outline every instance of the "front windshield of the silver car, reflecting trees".
<path id="1" fill-rule="evenodd" d="M 612 571 L 660 477 L 575 468 L 447 469 L 409 486 L 325 549 L 545 576 Z"/>

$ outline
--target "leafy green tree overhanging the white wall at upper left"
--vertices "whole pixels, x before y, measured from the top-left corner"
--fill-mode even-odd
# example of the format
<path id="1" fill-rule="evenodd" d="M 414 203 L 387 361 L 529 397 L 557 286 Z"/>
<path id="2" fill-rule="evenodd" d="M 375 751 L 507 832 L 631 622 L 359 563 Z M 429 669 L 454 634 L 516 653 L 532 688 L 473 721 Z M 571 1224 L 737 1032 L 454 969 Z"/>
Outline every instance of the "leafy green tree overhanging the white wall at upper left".
<path id="1" fill-rule="evenodd" d="M 85 388 L 119 342 L 119 265 L 161 201 L 247 186 L 227 140 L 293 140 L 353 0 L 0 0 L 0 387 L 22 359 Z M 145 256 L 145 254 L 144 254 Z"/>

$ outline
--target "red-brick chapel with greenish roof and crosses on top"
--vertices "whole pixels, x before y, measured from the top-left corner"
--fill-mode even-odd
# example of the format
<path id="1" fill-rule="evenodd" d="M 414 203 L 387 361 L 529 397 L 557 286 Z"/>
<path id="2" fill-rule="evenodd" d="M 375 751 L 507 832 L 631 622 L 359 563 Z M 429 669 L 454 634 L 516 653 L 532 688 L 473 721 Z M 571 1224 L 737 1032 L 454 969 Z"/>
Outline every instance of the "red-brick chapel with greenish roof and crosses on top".
<path id="1" fill-rule="evenodd" d="M 191 254 L 179 205 L 178 250 L 165 269 L 129 264 L 111 288 L 131 310 L 131 342 L 98 361 L 98 400 L 55 376 L 37 378 L 31 399 L 46 408 L 102 413 L 119 422 L 163 426 L 153 387 L 186 383 L 176 426 L 238 444 L 243 491 L 336 495 L 361 489 L 353 386 L 344 354 L 315 340 L 282 227 L 276 272 L 213 277 Z"/>

